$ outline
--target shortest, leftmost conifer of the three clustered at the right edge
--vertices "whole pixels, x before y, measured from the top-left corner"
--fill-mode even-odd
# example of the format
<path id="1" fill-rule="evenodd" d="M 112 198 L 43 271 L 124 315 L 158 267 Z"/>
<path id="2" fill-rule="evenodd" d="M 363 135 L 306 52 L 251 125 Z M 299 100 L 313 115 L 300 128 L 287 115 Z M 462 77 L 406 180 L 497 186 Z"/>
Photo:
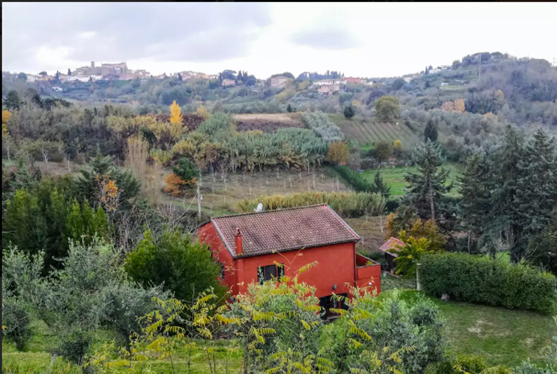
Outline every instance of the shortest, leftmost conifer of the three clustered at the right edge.
<path id="1" fill-rule="evenodd" d="M 489 163 L 483 152 L 476 152 L 466 160 L 466 169 L 458 178 L 462 194 L 461 214 L 468 232 L 468 253 L 480 241 L 487 216 L 491 211 L 491 183 Z"/>

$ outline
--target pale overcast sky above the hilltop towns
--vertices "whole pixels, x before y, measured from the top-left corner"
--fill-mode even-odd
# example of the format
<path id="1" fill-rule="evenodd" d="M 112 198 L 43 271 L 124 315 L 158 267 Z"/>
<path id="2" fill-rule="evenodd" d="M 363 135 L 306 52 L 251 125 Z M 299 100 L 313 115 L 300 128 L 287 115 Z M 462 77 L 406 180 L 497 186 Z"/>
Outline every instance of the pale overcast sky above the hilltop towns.
<path id="1" fill-rule="evenodd" d="M 399 76 L 475 52 L 557 58 L 557 3 L 2 3 L 2 70 Z"/>

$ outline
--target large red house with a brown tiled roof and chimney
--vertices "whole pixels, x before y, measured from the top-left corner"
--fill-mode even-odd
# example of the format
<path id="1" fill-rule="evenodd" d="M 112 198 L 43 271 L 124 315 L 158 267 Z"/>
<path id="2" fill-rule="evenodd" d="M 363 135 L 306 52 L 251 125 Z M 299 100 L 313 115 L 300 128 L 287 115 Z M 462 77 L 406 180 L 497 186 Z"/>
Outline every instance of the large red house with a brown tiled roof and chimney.
<path id="1" fill-rule="evenodd" d="M 333 293 L 347 296 L 348 286 L 380 292 L 380 264 L 356 253 L 359 235 L 328 205 L 213 217 L 199 227 L 198 237 L 221 263 L 232 294 L 283 272 L 292 276 L 314 261 L 317 266 L 299 279 L 316 287 L 325 308 Z"/>

